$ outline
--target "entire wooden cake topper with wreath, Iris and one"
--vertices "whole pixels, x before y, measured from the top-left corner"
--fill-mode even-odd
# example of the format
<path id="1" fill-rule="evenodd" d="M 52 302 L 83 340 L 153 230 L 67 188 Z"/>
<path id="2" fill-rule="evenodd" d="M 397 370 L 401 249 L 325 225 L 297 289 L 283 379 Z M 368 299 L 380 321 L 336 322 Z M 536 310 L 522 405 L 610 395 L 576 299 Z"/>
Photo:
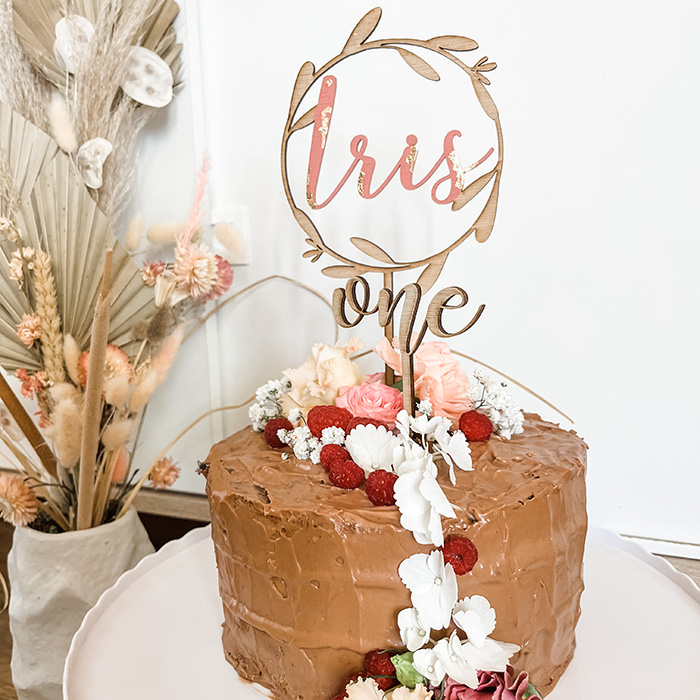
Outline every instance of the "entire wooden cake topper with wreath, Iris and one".
<path id="1" fill-rule="evenodd" d="M 501 123 L 493 99 L 486 86 L 490 84 L 485 73 L 496 67 L 495 63 L 488 62 L 486 57 L 477 61 L 473 66 L 464 63 L 454 52 L 473 51 L 478 44 L 467 37 L 438 36 L 427 40 L 418 39 L 378 39 L 369 41 L 370 35 L 376 29 L 380 17 L 381 8 L 375 8 L 368 12 L 357 24 L 343 50 L 318 70 L 310 62 L 301 67 L 292 92 L 289 116 L 284 129 L 282 139 L 282 179 L 285 194 L 292 208 L 295 219 L 306 233 L 306 243 L 310 250 L 304 253 L 305 258 L 316 262 L 324 253 L 338 261 L 338 265 L 323 268 L 322 272 L 339 279 L 347 279 L 343 288 L 336 289 L 333 293 L 333 311 L 337 323 L 344 328 L 356 326 L 365 316 L 378 315 L 379 324 L 384 328 L 384 334 L 391 342 L 394 337 L 394 316 L 398 306 L 403 302 L 400 319 L 398 321 L 398 350 L 401 354 L 401 375 L 403 378 L 404 408 L 411 414 L 414 412 L 415 392 L 413 355 L 423 341 L 425 334 L 430 330 L 440 338 L 449 338 L 460 335 L 469 330 L 479 319 L 484 310 L 484 305 L 478 307 L 472 318 L 457 331 L 448 331 L 443 323 L 443 313 L 447 310 L 463 308 L 467 305 L 469 297 L 460 287 L 450 286 L 435 293 L 428 303 L 424 321 L 417 325 L 417 317 L 422 296 L 431 289 L 438 279 L 449 254 L 458 248 L 464 241 L 474 234 L 480 243 L 486 241 L 491 235 L 496 217 L 498 192 L 503 164 L 503 136 Z M 411 50 L 413 48 L 414 50 Z M 334 114 L 338 80 L 331 71 L 341 61 L 357 56 L 367 51 L 376 49 L 394 50 L 405 63 L 422 78 L 430 81 L 439 81 L 440 75 L 428 61 L 421 58 L 415 49 L 427 50 L 449 60 L 469 78 L 471 87 L 476 95 L 484 114 L 494 122 L 496 134 L 496 163 L 486 173 L 472 181 L 468 181 L 467 174 L 481 166 L 494 154 L 494 149 L 489 149 L 482 157 L 468 168 L 462 168 L 454 151 L 454 140 L 461 136 L 457 130 L 449 131 L 443 140 L 443 152 L 437 162 L 418 182 L 414 181 L 414 169 L 417 155 L 417 137 L 406 137 L 406 147 L 401 153 L 398 162 L 389 173 L 388 177 L 379 184 L 372 183 L 375 171 L 375 159 L 368 155 L 368 139 L 366 136 L 357 135 L 350 143 L 350 154 L 353 157 L 346 173 L 341 178 L 337 187 L 325 199 L 319 201 L 317 185 L 321 164 L 323 162 L 326 140 Z M 315 85 L 318 86 L 317 103 L 307 110 L 302 116 L 298 116 L 302 100 L 308 95 Z M 313 127 L 311 136 L 308 169 L 306 172 L 305 204 L 315 212 L 328 206 L 340 189 L 346 184 L 356 171 L 357 191 L 362 199 L 374 199 L 396 176 L 401 186 L 406 190 L 415 190 L 427 184 L 433 175 L 445 166 L 447 174 L 437 180 L 431 190 L 431 198 L 438 205 L 449 204 L 452 212 L 461 210 L 466 204 L 474 200 L 482 191 L 491 185 L 486 203 L 478 212 L 475 219 L 465 230 L 446 247 L 437 253 L 422 257 L 413 261 L 397 261 L 379 245 L 366 238 L 350 237 L 352 245 L 372 262 L 360 262 L 349 258 L 345 254 L 333 250 L 324 240 L 317 225 L 311 216 L 303 211 L 295 201 L 289 182 L 288 171 L 288 147 L 290 137 L 306 127 Z M 441 184 L 450 185 L 450 191 L 442 198 L 438 196 L 437 188 Z M 416 282 L 406 284 L 398 292 L 394 292 L 394 274 L 410 270 L 421 270 Z M 379 273 L 383 276 L 383 287 L 379 290 L 376 301 L 372 301 L 369 282 L 363 275 L 367 273 Z M 387 384 L 394 382 L 393 372 L 387 368 Z"/>

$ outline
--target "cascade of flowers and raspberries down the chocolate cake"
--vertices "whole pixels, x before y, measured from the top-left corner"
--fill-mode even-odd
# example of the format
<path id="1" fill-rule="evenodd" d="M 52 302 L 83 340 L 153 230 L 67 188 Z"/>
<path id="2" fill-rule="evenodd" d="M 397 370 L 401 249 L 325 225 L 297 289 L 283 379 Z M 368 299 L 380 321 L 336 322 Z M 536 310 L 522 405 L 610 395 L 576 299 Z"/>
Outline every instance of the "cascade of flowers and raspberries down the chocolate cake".
<path id="1" fill-rule="evenodd" d="M 363 374 L 353 360 L 362 349 L 357 338 L 314 345 L 301 366 L 257 390 L 249 411 L 254 430 L 282 450 L 281 459 L 318 465 L 334 488 L 364 487 L 373 506 L 398 508 L 416 542 L 435 547 L 398 564 L 412 603 L 397 616 L 405 648 L 368 651 L 334 700 L 541 697 L 527 673 L 509 664 L 520 647 L 490 636 L 496 612 L 489 601 L 458 599 L 457 577 L 468 575 L 479 555 L 467 537 L 445 537 L 442 519 L 456 513 L 438 481 L 439 469 L 452 484 L 456 470 L 473 470 L 471 444 L 522 433 L 520 406 L 505 383 L 478 368 L 470 383 L 449 346 L 435 341 L 416 353 L 411 415 L 400 377 L 392 386 L 384 372 Z M 398 363 L 386 339 L 374 352 L 389 366 Z"/>

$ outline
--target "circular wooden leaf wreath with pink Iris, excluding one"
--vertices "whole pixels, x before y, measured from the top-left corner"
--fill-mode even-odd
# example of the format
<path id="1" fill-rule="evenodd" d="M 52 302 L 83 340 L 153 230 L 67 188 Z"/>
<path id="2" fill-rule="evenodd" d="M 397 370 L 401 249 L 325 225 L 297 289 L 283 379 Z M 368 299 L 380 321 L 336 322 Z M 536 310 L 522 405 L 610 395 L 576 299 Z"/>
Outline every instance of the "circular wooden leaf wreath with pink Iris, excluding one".
<path id="1" fill-rule="evenodd" d="M 343 47 L 340 54 L 332 58 L 320 69 L 316 70 L 311 62 L 305 63 L 297 76 L 294 85 L 289 115 L 285 125 L 284 136 L 282 141 L 282 179 L 285 189 L 285 194 L 289 201 L 290 207 L 297 222 L 307 235 L 306 242 L 310 249 L 304 253 L 304 257 L 311 258 L 312 262 L 316 262 L 323 253 L 328 254 L 340 264 L 326 267 L 323 269 L 324 274 L 335 278 L 350 278 L 357 275 L 362 275 L 366 272 L 386 273 L 402 272 L 406 270 L 425 268 L 420 274 L 417 283 L 422 291 L 427 291 L 437 280 L 440 272 L 447 260 L 448 255 L 459 247 L 469 236 L 474 234 L 478 242 L 484 242 L 488 239 L 493 229 L 496 216 L 496 207 L 498 202 L 498 192 L 500 186 L 501 170 L 503 164 L 503 137 L 498 109 L 496 108 L 493 99 L 491 98 L 486 85 L 490 84 L 489 79 L 485 75 L 487 72 L 496 67 L 495 63 L 489 62 L 486 57 L 477 61 L 470 66 L 464 63 L 456 53 L 473 51 L 478 48 L 478 44 L 467 37 L 446 35 L 433 37 L 427 40 L 419 39 L 379 39 L 369 41 L 371 34 L 376 29 L 381 17 L 381 9 L 375 8 L 368 12 L 357 24 L 351 33 L 348 41 Z M 316 201 L 316 182 L 318 179 L 318 170 L 320 169 L 320 161 L 324 155 L 325 140 L 328 135 L 330 122 L 333 116 L 333 107 L 335 100 L 335 90 L 337 87 L 337 79 L 330 74 L 330 71 L 337 66 L 341 61 L 358 56 L 359 54 L 375 51 L 375 50 L 394 50 L 396 51 L 405 63 L 421 78 L 429 81 L 439 81 L 440 75 L 435 68 L 425 59 L 421 58 L 415 49 L 432 52 L 440 57 L 447 59 L 454 66 L 457 66 L 460 74 L 465 78 L 469 78 L 473 92 L 478 100 L 478 103 L 483 110 L 483 114 L 490 119 L 495 126 L 495 134 L 497 141 L 497 161 L 495 165 L 485 174 L 476 178 L 473 181 L 467 181 L 467 173 L 475 167 L 481 165 L 492 155 L 493 149 L 490 149 L 484 156 L 472 164 L 468 168 L 462 168 L 452 146 L 452 141 L 456 136 L 460 136 L 459 131 L 451 131 L 445 137 L 444 152 L 438 163 L 426 177 L 419 183 L 413 183 L 413 165 L 416 157 L 416 137 L 409 136 L 406 141 L 406 148 L 401 155 L 399 162 L 394 167 L 386 181 L 372 194 L 369 193 L 371 185 L 364 187 L 364 178 L 367 177 L 367 182 L 371 178 L 374 170 L 373 159 L 365 154 L 367 139 L 362 135 L 356 136 L 351 143 L 351 154 L 355 156 L 354 162 L 348 169 L 345 178 L 336 188 L 333 194 L 323 203 Z M 413 49 L 413 50 L 412 50 Z M 306 95 L 309 94 L 312 87 L 319 87 L 319 99 L 317 104 L 306 111 L 302 116 L 298 116 L 300 105 Z M 289 139 L 300 129 L 313 125 L 313 134 L 311 137 L 311 151 L 309 155 L 309 169 L 306 176 L 306 203 L 314 210 L 328 204 L 335 196 L 337 191 L 342 187 L 352 171 L 357 170 L 358 174 L 358 191 L 365 199 L 373 198 L 388 184 L 393 176 L 398 175 L 402 184 L 406 189 L 417 189 L 437 171 L 438 167 L 443 163 L 447 164 L 448 175 L 442 177 L 433 186 L 433 200 L 438 203 L 445 203 L 447 200 L 451 204 L 453 212 L 461 210 L 469 202 L 472 202 L 482 191 L 488 193 L 486 188 L 491 185 L 491 191 L 488 194 L 485 204 L 478 211 L 475 218 L 470 223 L 463 227 L 459 236 L 448 245 L 441 247 L 437 252 L 421 257 L 416 260 L 397 261 L 384 249 L 375 242 L 361 237 L 350 237 L 350 242 L 362 254 L 367 256 L 371 262 L 362 262 L 352 259 L 348 254 L 341 253 L 327 243 L 323 235 L 319 231 L 317 224 L 309 214 L 301 209 L 295 200 L 292 188 L 289 181 L 288 159 L 289 159 Z M 413 141 L 411 141 L 413 139 Z M 437 186 L 446 180 L 451 180 L 451 190 L 447 198 L 438 199 L 435 192 Z M 354 257 L 354 256 L 353 256 Z"/>

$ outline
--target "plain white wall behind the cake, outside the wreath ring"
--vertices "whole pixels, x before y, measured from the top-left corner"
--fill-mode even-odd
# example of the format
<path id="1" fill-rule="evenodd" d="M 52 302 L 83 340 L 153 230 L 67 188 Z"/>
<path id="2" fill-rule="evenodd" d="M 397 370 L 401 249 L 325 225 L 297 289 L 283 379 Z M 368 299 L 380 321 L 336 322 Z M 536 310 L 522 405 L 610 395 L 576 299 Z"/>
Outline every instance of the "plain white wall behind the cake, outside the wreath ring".
<path id="1" fill-rule="evenodd" d="M 211 207 L 250 239 L 251 264 L 236 268 L 234 291 L 281 274 L 330 296 L 334 281 L 301 257 L 280 141 L 299 67 L 339 53 L 372 5 L 196 5 L 181 31 L 194 54 L 192 39 L 201 41 L 201 84 L 189 76 L 168 117 L 149 130 L 136 208 L 149 223 L 183 219 L 195 153 L 206 148 Z M 480 44 L 466 60 L 488 55 L 498 63 L 489 74 L 505 138 L 496 227 L 487 243 L 468 241 L 453 255 L 440 281 L 464 287 L 470 307 L 487 308 L 454 347 L 574 418 L 590 446 L 594 524 L 700 543 L 700 6 L 386 0 L 383 9 L 373 38 L 463 34 Z M 409 70 L 398 58 L 396 65 Z M 414 111 L 416 129 L 429 128 L 429 105 L 416 101 Z M 396 219 L 386 223 L 401 235 Z M 357 330 L 378 337 L 374 319 Z M 212 401 L 245 400 L 300 364 L 313 342 L 333 337 L 323 305 L 283 282 L 229 305 L 181 354 L 150 411 L 142 458 Z M 241 427 L 245 413 L 227 415 L 224 432 Z M 201 490 L 194 460 L 216 435 L 217 426 L 206 425 L 175 450 L 180 488 Z"/>

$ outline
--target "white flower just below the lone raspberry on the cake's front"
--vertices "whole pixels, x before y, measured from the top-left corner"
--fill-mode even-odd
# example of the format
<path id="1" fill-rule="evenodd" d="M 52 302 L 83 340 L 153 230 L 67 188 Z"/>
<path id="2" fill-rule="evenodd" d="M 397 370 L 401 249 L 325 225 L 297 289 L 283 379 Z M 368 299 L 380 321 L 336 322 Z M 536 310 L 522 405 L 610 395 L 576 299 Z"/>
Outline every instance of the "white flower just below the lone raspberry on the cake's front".
<path id="1" fill-rule="evenodd" d="M 436 549 L 404 559 L 399 576 L 425 624 L 435 630 L 448 627 L 457 602 L 457 576 L 452 565 L 445 564 L 442 552 Z"/>

